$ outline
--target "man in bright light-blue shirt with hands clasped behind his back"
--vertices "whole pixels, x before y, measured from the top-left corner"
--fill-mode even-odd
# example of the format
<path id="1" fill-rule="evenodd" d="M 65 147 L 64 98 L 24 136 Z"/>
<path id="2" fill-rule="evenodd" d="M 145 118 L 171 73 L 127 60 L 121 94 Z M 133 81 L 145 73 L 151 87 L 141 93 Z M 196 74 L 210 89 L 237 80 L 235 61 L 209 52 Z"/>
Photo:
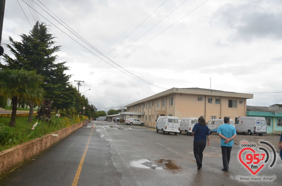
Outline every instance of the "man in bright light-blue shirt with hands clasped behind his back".
<path id="1" fill-rule="evenodd" d="M 220 125 L 217 130 L 217 134 L 221 137 L 221 153 L 223 161 L 223 171 L 228 172 L 230 154 L 233 146 L 233 139 L 236 138 L 235 127 L 230 125 L 228 117 L 224 118 L 224 124 Z"/>

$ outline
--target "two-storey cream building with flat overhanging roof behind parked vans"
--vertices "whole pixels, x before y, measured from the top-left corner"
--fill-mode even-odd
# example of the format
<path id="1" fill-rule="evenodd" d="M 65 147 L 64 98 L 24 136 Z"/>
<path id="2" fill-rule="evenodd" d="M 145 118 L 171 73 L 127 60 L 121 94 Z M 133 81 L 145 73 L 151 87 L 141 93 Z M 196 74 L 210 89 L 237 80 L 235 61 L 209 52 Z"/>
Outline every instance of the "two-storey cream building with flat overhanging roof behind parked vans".
<path id="1" fill-rule="evenodd" d="M 253 94 L 204 88 L 171 88 L 126 107 L 127 112 L 141 113 L 139 119 L 155 127 L 155 120 L 159 116 L 204 117 L 206 121 L 229 117 L 236 121 L 237 117 L 246 116 L 246 99 L 250 98 L 253 98 Z"/>

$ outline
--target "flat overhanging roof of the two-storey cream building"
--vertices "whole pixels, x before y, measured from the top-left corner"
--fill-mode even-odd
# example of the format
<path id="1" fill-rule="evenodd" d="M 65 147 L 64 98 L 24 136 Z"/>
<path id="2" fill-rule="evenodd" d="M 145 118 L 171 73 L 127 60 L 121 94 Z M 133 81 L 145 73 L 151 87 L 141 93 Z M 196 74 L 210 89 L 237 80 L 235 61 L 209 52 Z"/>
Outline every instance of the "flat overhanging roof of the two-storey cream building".
<path id="1" fill-rule="evenodd" d="M 206 88 L 197 88 L 197 87 L 196 88 L 171 88 L 171 89 L 163 91 L 161 93 L 152 95 L 148 98 L 144 98 L 144 99 L 136 101 L 134 103 L 130 103 L 128 105 L 125 105 L 125 107 L 130 107 L 132 105 L 143 103 L 143 102 L 146 102 L 146 101 L 149 101 L 149 100 L 154 100 L 156 98 L 164 97 L 164 96 L 167 96 L 167 95 L 172 95 L 173 93 L 196 94 L 196 95 L 214 95 L 214 96 L 246 98 L 246 99 L 254 98 L 253 94 L 219 91 L 219 90 L 206 89 Z"/>

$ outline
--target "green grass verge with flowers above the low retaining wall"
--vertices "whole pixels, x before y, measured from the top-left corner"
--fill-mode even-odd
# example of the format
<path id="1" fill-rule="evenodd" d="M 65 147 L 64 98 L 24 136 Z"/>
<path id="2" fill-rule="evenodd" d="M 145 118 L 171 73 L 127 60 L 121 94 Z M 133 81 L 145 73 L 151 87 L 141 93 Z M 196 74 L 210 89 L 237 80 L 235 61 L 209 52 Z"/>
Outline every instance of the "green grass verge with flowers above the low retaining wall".
<path id="1" fill-rule="evenodd" d="M 45 134 L 51 134 L 57 130 L 79 123 L 84 119 L 77 117 L 73 119 L 67 117 L 57 118 L 55 115 L 52 115 L 51 120 L 45 122 L 38 121 L 35 119 L 35 116 L 33 116 L 33 122 L 29 122 L 28 116 L 16 117 L 16 126 L 9 127 L 10 120 L 11 117 L 0 117 L 0 151 L 41 137 Z M 38 125 L 32 130 L 31 128 L 36 122 L 38 122 Z"/>

